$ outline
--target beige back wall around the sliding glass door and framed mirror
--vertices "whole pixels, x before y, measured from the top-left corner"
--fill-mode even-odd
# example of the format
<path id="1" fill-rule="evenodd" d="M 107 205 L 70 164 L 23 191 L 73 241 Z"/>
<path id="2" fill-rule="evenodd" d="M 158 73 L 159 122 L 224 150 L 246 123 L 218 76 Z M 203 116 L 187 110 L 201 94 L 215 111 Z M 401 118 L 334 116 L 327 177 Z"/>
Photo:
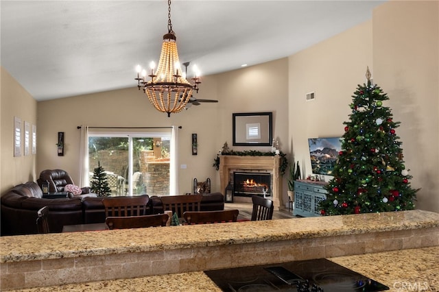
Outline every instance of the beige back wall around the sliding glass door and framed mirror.
<path id="1" fill-rule="evenodd" d="M 179 193 L 191 193 L 193 178 L 199 181 L 211 178 L 212 191 L 222 191 L 219 189 L 219 174 L 212 165 L 226 141 L 232 147 L 233 112 L 274 112 L 274 136 L 281 142 L 287 139 L 287 127 L 282 126 L 285 125 L 283 121 L 287 120 L 287 58 L 204 77 L 200 92 L 195 96 L 198 99 L 217 99 L 219 102 L 192 106 L 168 118 L 167 114 L 153 109 L 146 95 L 137 87 L 41 101 L 38 103 L 38 128 L 44 132 L 40 133 L 37 172 L 61 168 L 71 174 L 74 182 L 79 182 L 78 125 L 181 125 L 178 165 L 187 165 L 187 168 L 178 169 Z M 64 156 L 58 156 L 56 152 L 58 132 L 64 132 L 65 135 Z M 196 156 L 191 155 L 192 133 L 198 134 Z M 269 151 L 270 147 L 260 150 Z"/>

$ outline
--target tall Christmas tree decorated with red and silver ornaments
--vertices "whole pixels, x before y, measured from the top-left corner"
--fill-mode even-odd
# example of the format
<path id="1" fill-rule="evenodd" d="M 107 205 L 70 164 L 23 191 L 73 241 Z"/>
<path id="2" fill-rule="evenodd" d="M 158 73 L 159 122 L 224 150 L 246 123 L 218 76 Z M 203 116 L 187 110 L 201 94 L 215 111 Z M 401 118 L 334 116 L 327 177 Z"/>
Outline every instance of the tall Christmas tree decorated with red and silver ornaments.
<path id="1" fill-rule="evenodd" d="M 320 202 L 321 215 L 359 214 L 411 210 L 416 191 L 405 169 L 403 151 L 388 96 L 376 84 L 358 85 L 350 104 L 351 121 L 344 122 L 342 150 L 325 186 L 327 199 Z"/>

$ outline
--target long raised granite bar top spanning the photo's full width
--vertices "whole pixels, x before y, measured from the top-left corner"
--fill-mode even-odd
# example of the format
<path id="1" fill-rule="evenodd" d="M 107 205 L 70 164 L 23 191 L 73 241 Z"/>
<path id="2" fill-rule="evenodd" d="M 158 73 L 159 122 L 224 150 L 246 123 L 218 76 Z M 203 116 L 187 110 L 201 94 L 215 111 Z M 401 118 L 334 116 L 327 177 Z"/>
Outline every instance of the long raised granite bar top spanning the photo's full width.
<path id="1" fill-rule="evenodd" d="M 438 226 L 439 213 L 409 210 L 136 230 L 2 236 L 0 262 L 259 243 Z"/>

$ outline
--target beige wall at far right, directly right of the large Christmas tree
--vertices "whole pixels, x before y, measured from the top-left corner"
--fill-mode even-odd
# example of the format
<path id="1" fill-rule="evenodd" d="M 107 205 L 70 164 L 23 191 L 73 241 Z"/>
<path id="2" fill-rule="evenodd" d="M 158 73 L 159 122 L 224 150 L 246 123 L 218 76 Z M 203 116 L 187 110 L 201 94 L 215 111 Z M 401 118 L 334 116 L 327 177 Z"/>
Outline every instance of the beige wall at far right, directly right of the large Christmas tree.
<path id="1" fill-rule="evenodd" d="M 391 1 L 373 14 L 374 77 L 388 93 L 417 208 L 439 212 L 439 1 Z"/>

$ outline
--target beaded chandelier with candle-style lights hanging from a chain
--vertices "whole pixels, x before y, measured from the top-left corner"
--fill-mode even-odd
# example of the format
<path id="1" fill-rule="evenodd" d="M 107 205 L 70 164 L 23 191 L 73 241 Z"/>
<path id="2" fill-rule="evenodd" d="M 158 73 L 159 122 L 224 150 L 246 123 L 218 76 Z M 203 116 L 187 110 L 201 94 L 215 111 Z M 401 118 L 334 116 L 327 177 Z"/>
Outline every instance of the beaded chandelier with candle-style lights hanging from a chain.
<path id="1" fill-rule="evenodd" d="M 162 51 L 158 60 L 157 70 L 154 73 L 155 63 L 150 63 L 151 79 L 146 81 L 146 70 L 137 65 L 137 87 L 143 88 L 143 92 L 150 99 L 151 104 L 159 112 L 180 112 L 184 109 L 191 98 L 192 91 L 198 93 L 200 84 L 199 73 L 195 73 L 191 78 L 192 83 L 186 80 L 186 73 L 182 72 L 176 44 L 176 34 L 172 30 L 171 23 L 171 0 L 167 1 L 168 21 L 167 34 L 163 36 Z"/>

